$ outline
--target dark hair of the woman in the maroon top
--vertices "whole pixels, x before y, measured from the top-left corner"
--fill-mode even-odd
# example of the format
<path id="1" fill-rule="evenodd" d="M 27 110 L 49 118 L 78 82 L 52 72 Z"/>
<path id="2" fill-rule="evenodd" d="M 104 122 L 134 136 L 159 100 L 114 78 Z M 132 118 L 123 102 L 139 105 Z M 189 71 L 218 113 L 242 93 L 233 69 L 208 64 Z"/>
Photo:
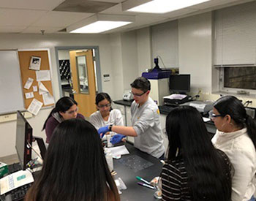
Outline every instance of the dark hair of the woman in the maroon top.
<path id="1" fill-rule="evenodd" d="M 59 112 L 65 113 L 73 105 L 78 105 L 78 103 L 74 99 L 70 98 L 69 96 L 64 96 L 61 99 L 59 99 L 56 102 L 56 105 L 53 108 L 53 110 L 50 111 L 50 114 L 48 115 L 48 118 L 46 118 L 45 124 L 44 124 L 44 126 L 42 126 L 42 131 L 45 129 L 46 122 L 48 121 L 48 119 L 51 117 L 51 115 L 53 113 L 59 113 Z"/>

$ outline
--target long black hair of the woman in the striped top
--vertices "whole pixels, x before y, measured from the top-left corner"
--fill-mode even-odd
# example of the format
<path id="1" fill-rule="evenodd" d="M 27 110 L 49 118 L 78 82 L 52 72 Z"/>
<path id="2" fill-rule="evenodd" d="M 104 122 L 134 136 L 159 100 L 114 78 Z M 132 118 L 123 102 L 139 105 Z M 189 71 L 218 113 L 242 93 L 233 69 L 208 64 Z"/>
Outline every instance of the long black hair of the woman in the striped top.
<path id="1" fill-rule="evenodd" d="M 195 107 L 181 106 L 170 111 L 166 132 L 169 140 L 167 159 L 172 161 L 181 157 L 184 160 L 193 200 L 230 200 L 231 178 L 230 174 L 226 175 L 229 167 L 211 144 L 203 119 Z"/>

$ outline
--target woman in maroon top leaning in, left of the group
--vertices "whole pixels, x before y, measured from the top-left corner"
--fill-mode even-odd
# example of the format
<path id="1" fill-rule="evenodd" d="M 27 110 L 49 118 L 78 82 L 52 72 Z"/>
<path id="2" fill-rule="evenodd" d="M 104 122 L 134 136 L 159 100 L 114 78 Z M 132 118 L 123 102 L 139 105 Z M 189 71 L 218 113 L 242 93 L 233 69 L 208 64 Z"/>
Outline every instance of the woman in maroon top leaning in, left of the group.
<path id="1" fill-rule="evenodd" d="M 84 116 L 78 113 L 78 103 L 74 99 L 64 96 L 56 102 L 55 107 L 51 110 L 50 115 L 48 115 L 42 127 L 42 130 L 45 129 L 46 143 L 50 143 L 50 138 L 56 126 L 70 118 L 84 119 Z"/>

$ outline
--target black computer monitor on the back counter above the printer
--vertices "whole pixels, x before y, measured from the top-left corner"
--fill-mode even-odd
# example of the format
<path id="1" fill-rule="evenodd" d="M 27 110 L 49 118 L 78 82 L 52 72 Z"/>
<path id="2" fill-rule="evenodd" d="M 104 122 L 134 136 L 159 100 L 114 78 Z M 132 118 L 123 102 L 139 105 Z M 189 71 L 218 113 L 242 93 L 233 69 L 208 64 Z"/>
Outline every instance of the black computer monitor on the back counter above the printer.
<path id="1" fill-rule="evenodd" d="M 190 91 L 190 75 L 177 74 L 169 77 L 169 90 L 172 93 L 186 94 Z"/>

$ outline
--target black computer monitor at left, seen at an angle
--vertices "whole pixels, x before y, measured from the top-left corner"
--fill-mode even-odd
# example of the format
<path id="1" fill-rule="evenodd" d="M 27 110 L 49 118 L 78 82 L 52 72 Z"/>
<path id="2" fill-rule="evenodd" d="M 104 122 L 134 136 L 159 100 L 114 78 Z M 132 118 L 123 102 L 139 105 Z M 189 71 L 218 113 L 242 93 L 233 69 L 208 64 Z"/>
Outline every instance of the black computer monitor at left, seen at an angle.
<path id="1" fill-rule="evenodd" d="M 32 132 L 33 129 L 29 122 L 26 121 L 26 118 L 24 118 L 20 111 L 17 111 L 15 148 L 23 170 L 26 170 L 26 164 L 31 161 Z"/>

